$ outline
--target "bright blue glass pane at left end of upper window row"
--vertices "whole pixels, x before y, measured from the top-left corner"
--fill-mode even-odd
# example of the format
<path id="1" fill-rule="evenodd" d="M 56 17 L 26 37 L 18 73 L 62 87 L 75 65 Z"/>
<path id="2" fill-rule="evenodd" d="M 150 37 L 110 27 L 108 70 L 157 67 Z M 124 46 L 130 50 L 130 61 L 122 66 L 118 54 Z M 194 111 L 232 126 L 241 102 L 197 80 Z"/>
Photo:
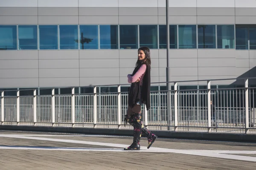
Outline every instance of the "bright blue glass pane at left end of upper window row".
<path id="1" fill-rule="evenodd" d="M 17 26 L 0 26 L 0 50 L 17 50 Z"/>

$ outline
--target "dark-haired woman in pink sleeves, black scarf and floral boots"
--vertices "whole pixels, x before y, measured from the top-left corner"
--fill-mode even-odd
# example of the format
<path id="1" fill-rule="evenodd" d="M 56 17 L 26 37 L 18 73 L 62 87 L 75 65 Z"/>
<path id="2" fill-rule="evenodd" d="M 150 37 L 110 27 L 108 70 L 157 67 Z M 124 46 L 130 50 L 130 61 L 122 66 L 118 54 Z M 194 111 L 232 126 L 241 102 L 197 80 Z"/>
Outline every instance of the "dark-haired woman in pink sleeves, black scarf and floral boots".
<path id="1" fill-rule="evenodd" d="M 138 59 L 132 74 L 128 74 L 128 82 L 131 87 L 128 94 L 128 109 L 125 122 L 134 127 L 134 139 L 131 146 L 124 150 L 140 150 L 141 133 L 148 138 L 148 149 L 157 139 L 141 121 L 141 105 L 144 103 L 147 110 L 150 108 L 150 70 L 151 59 L 148 47 L 138 49 Z"/>

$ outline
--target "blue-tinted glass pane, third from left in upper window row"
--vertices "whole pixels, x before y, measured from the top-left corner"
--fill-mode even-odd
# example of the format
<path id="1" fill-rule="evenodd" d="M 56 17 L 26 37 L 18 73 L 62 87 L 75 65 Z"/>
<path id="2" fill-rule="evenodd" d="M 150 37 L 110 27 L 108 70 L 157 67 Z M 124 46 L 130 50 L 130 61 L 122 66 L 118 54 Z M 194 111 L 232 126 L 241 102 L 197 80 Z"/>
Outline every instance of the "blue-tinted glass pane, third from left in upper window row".
<path id="1" fill-rule="evenodd" d="M 39 26 L 39 49 L 58 49 L 58 26 Z"/>

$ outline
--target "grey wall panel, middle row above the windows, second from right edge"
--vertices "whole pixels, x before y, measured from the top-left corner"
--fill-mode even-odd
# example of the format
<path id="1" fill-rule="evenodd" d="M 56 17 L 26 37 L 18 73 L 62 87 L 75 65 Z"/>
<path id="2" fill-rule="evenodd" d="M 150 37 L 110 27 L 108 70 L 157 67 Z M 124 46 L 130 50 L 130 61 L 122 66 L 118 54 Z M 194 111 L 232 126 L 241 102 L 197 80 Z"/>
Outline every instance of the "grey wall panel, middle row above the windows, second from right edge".
<path id="1" fill-rule="evenodd" d="M 197 8 L 198 16 L 234 16 L 235 8 Z"/>

